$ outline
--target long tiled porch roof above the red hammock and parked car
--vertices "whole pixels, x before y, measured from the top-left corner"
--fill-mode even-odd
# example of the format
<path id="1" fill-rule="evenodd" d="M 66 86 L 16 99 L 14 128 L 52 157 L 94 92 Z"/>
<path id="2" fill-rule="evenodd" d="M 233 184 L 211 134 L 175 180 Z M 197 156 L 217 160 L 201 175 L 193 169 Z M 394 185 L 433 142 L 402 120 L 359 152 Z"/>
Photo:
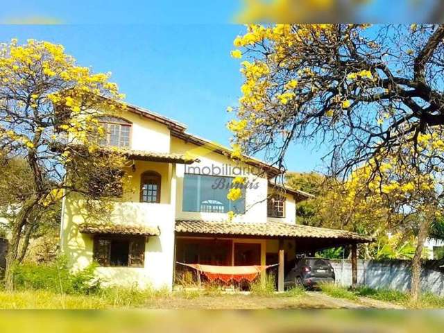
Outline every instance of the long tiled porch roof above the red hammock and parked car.
<path id="1" fill-rule="evenodd" d="M 315 238 L 368 243 L 373 237 L 345 230 L 316 228 L 308 225 L 267 221 L 266 223 L 232 223 L 223 221 L 176 220 L 176 232 L 184 234 L 241 235 L 274 238 Z"/>

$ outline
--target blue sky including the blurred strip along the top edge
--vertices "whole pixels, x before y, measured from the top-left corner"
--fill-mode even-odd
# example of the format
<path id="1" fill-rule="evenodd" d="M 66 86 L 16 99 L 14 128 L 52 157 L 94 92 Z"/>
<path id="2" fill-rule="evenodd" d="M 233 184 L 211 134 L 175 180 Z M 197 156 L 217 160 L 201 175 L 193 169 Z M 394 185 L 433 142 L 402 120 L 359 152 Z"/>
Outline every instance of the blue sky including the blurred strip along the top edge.
<path id="1" fill-rule="evenodd" d="M 411 22 L 411 15 L 421 17 L 437 0 L 421 1 L 409 7 L 404 0 L 375 0 L 359 14 L 371 22 Z M 15 0 L 3 6 L 0 22 L 69 25 L 0 25 L 0 42 L 17 37 L 63 44 L 80 65 L 111 71 L 128 102 L 228 145 L 225 110 L 235 105 L 242 83 L 239 61 L 230 51 L 245 29 L 228 22 L 243 6 L 241 0 Z M 322 155 L 311 146 L 293 145 L 287 167 L 319 170 Z"/>

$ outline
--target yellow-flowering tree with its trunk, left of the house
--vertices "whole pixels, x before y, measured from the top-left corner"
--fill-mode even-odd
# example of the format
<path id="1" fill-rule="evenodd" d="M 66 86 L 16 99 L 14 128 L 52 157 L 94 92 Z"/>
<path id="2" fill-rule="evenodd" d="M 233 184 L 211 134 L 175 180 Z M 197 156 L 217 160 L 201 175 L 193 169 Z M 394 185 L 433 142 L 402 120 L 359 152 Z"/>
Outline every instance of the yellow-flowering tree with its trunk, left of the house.
<path id="1" fill-rule="evenodd" d="M 0 44 L 1 159 L 3 165 L 21 160 L 28 175 L 17 185 L 22 191 L 12 195 L 8 173 L 1 174 L 0 205 L 11 213 L 8 289 L 37 215 L 71 191 L 96 199 L 110 196 L 106 190 L 121 183 L 121 173 L 110 169 L 122 167 L 122 157 L 101 153 L 92 139 L 103 133 L 98 115 L 116 110 L 121 98 L 109 76 L 79 67 L 61 45 L 35 40 Z"/>

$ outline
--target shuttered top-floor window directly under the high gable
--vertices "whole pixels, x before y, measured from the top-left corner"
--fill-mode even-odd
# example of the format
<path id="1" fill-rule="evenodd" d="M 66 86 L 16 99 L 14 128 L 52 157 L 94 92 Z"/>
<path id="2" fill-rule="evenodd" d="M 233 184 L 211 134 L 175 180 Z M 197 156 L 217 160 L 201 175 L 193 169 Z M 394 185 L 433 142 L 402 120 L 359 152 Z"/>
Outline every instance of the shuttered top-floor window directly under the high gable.
<path id="1" fill-rule="evenodd" d="M 103 146 L 129 147 L 131 123 L 117 117 L 103 117 L 100 124 L 105 128 L 105 136 L 101 138 Z"/>

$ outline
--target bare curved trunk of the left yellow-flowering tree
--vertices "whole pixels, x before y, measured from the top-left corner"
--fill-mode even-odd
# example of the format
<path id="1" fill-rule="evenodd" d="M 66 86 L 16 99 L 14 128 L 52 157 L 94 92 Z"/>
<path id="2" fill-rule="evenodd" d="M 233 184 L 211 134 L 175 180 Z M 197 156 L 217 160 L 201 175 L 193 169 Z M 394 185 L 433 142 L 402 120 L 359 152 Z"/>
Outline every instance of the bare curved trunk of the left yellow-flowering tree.
<path id="1" fill-rule="evenodd" d="M 38 202 L 37 196 L 31 196 L 28 198 L 20 208 L 15 221 L 12 225 L 11 239 L 8 247 L 8 254 L 6 255 L 6 271 L 5 271 L 5 288 L 8 291 L 14 289 L 14 266 L 18 263 L 19 257 L 19 244 L 22 237 L 22 231 L 26 225 L 28 216 L 33 211 L 35 204 Z"/>

